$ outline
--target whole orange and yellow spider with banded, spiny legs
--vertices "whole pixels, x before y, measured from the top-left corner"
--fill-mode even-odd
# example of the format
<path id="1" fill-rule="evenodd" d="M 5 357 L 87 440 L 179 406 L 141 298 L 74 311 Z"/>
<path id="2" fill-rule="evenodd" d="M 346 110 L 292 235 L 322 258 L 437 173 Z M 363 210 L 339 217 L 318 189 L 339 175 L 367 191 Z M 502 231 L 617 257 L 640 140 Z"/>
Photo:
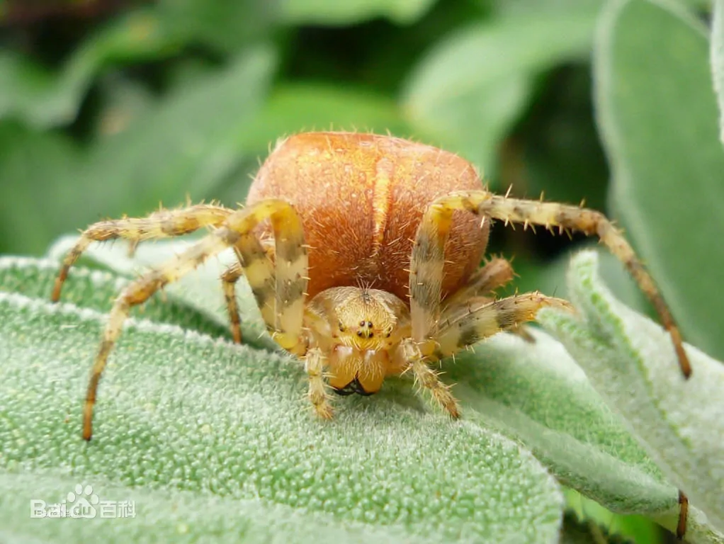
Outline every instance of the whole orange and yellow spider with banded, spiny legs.
<path id="1" fill-rule="evenodd" d="M 301 133 L 277 143 L 242 209 L 200 204 L 101 221 L 65 256 L 53 301 L 92 241 L 125 238 L 135 245 L 212 228 L 116 299 L 90 372 L 83 438 L 93 434 L 98 382 L 130 308 L 230 247 L 238 259 L 221 280 L 234 340 L 241 341 L 235 284 L 245 275 L 271 338 L 304 361 L 307 396 L 319 417 L 332 417 L 330 389 L 370 395 L 385 377 L 411 372 L 458 418 L 458 401 L 432 364 L 497 332 L 515 331 L 544 306 L 570 308 L 537 292 L 494 297 L 513 269 L 501 258 L 479 267 L 493 219 L 597 235 L 652 301 L 683 373 L 690 374 L 678 327 L 652 277 L 600 212 L 495 195 L 466 160 L 421 143 Z"/>

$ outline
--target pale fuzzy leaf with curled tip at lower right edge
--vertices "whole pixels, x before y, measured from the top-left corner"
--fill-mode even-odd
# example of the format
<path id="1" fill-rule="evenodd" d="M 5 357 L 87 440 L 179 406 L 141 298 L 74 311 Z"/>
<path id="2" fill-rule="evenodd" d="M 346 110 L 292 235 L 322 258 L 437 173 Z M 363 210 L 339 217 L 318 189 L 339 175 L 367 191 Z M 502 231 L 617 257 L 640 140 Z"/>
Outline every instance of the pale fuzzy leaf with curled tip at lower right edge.
<path id="1" fill-rule="evenodd" d="M 724 541 L 724 365 L 687 346 L 693 373 L 684 380 L 668 333 L 610 295 L 594 252 L 573 259 L 569 288 L 580 315 L 541 311 L 539 320 L 664 474 L 706 514 L 708 523 L 691 516 L 691 540 L 716 528 Z"/>

